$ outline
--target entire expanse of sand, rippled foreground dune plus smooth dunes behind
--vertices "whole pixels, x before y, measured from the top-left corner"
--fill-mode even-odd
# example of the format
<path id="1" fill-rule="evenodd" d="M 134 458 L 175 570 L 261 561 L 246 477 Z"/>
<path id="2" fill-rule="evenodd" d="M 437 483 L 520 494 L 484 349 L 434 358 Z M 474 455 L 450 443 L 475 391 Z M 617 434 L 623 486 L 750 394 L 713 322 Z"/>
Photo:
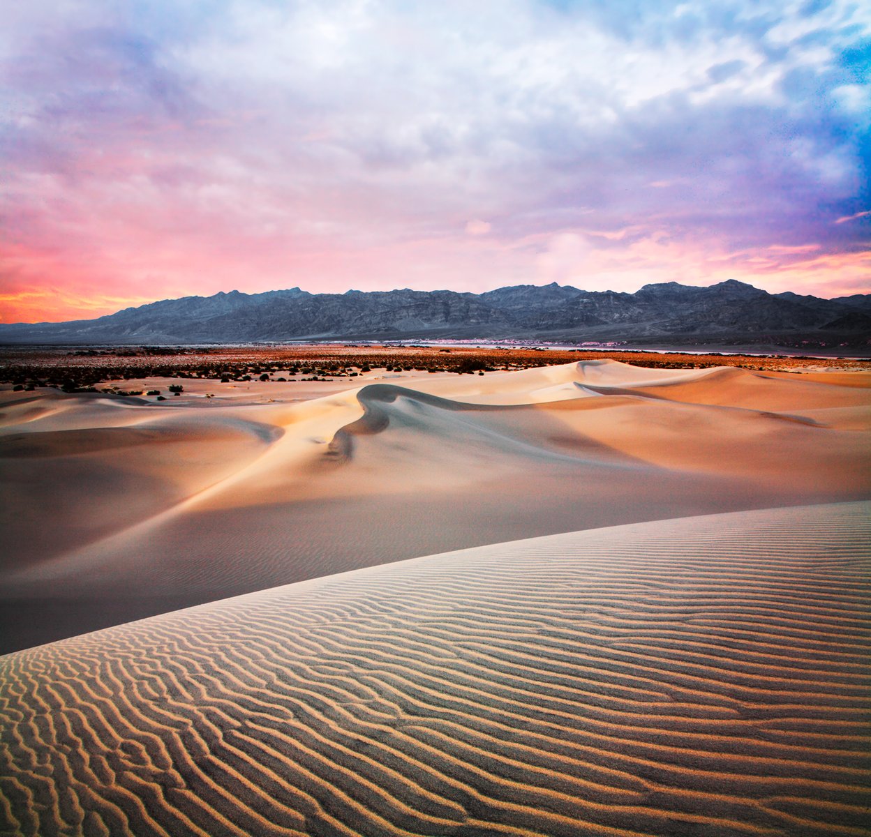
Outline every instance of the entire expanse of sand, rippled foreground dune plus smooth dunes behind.
<path id="1" fill-rule="evenodd" d="M 183 383 L 0 392 L 0 834 L 871 833 L 871 373 Z"/>

